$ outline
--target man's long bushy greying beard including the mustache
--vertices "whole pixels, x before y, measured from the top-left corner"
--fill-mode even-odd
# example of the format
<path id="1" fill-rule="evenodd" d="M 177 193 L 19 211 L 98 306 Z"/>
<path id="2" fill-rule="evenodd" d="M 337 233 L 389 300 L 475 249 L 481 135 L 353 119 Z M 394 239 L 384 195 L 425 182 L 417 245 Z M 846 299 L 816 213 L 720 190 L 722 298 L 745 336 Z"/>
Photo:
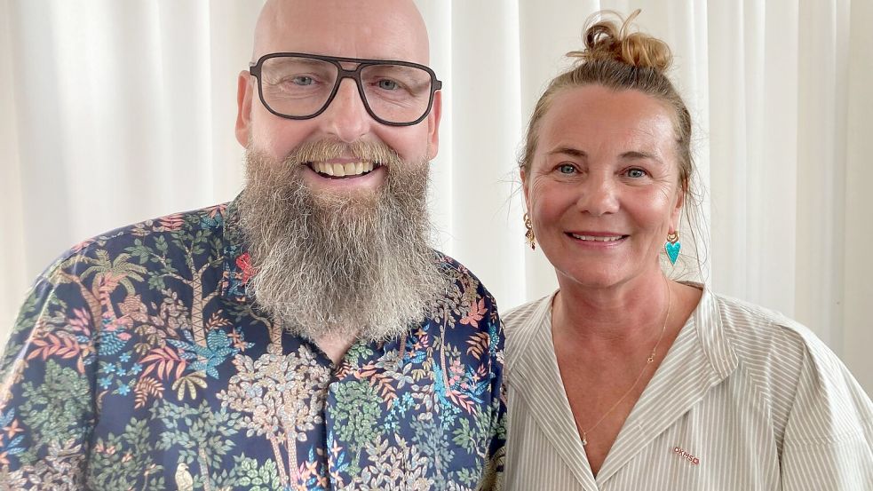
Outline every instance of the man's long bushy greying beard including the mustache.
<path id="1" fill-rule="evenodd" d="M 386 166 L 376 190 L 313 193 L 305 162 L 354 155 Z M 313 142 L 283 162 L 246 151 L 241 224 L 258 308 L 316 340 L 387 340 L 430 312 L 446 289 L 428 246 L 427 162 L 390 147 Z"/>

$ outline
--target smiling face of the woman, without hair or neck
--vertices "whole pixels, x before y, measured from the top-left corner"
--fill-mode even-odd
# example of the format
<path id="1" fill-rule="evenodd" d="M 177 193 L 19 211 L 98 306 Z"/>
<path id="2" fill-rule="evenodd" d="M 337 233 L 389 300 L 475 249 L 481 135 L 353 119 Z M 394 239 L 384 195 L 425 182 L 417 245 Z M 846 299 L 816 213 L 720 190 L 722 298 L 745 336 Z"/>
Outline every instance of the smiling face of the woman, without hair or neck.
<path id="1" fill-rule="evenodd" d="M 601 85 L 556 93 L 551 107 L 522 174 L 536 239 L 559 283 L 631 281 L 679 228 L 687 179 L 674 163 L 681 150 L 670 110 Z"/>

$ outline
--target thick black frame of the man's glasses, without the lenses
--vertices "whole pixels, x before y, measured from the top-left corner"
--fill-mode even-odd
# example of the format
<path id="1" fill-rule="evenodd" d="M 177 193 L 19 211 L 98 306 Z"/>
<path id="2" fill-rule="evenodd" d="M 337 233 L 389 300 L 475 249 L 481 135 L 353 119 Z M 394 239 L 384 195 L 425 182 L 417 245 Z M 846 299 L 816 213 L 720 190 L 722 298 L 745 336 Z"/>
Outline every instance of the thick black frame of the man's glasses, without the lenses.
<path id="1" fill-rule="evenodd" d="M 313 113 L 312 115 L 306 116 L 292 116 L 292 115 L 283 115 L 270 107 L 269 104 L 266 103 L 264 99 L 264 86 L 261 83 L 261 68 L 264 66 L 264 62 L 267 59 L 271 58 L 306 58 L 306 59 L 318 59 L 321 61 L 327 61 L 330 64 L 337 67 L 337 80 L 333 84 L 333 90 L 330 91 L 330 95 L 328 99 L 324 102 L 324 105 L 321 106 L 321 109 Z M 357 63 L 358 66 L 354 67 L 351 70 L 346 70 L 341 63 Z M 430 98 L 427 100 L 427 108 L 425 109 L 424 114 L 422 114 L 417 120 L 410 121 L 408 123 L 396 123 L 393 121 L 386 121 L 376 113 L 373 112 L 373 109 L 369 107 L 369 102 L 367 101 L 367 96 L 364 95 L 364 88 L 361 84 L 361 70 L 366 67 L 372 67 L 374 65 L 400 65 L 401 67 L 413 67 L 425 70 L 429 75 L 431 75 L 431 94 Z M 274 115 L 279 117 L 283 117 L 286 119 L 312 119 L 318 115 L 321 115 L 329 106 L 330 103 L 333 102 L 333 98 L 337 95 L 337 91 L 339 91 L 339 84 L 343 83 L 343 80 L 346 78 L 351 78 L 355 85 L 358 86 L 358 95 L 361 96 L 361 102 L 364 103 L 364 108 L 367 109 L 367 114 L 369 114 L 373 119 L 382 124 L 387 124 L 388 126 L 412 126 L 413 124 L 418 124 L 424 121 L 425 117 L 431 113 L 431 109 L 433 109 L 433 94 L 436 91 L 442 89 L 442 82 L 437 80 L 436 74 L 430 67 L 425 65 L 419 65 L 418 63 L 412 63 L 411 61 L 399 61 L 392 59 L 361 59 L 361 58 L 339 58 L 336 56 L 324 56 L 320 54 L 310 54 L 310 53 L 296 53 L 296 52 L 277 52 L 277 53 L 269 53 L 258 59 L 256 63 L 249 64 L 249 73 L 258 79 L 258 97 L 261 99 L 261 104 L 266 107 L 267 111 L 270 111 Z"/>

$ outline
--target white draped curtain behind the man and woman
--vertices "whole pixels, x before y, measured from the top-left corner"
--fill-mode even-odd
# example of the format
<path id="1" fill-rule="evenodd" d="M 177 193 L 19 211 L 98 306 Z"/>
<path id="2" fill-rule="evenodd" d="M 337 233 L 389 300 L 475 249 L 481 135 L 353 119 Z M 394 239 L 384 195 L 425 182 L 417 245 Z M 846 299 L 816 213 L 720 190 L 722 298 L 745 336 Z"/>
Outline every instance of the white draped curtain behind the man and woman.
<path id="1" fill-rule="evenodd" d="M 238 193 L 235 79 L 260 4 L 0 0 L 0 338 L 63 249 Z M 873 3 L 417 4 L 445 83 L 436 242 L 502 308 L 556 285 L 514 184 L 530 110 L 592 12 L 641 8 L 694 117 L 703 279 L 806 323 L 873 393 Z"/>

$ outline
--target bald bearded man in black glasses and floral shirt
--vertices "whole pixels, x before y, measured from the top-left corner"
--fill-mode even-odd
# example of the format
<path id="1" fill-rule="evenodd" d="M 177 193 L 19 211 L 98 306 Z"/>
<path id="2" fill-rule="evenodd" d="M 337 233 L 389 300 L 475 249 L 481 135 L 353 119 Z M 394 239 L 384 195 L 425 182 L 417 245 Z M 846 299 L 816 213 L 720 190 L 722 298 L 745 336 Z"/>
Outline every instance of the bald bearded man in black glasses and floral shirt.
<path id="1" fill-rule="evenodd" d="M 270 1 L 255 33 L 242 194 L 77 245 L 22 306 L 7 487 L 499 487 L 496 306 L 427 242 L 441 83 L 420 14 Z"/>

